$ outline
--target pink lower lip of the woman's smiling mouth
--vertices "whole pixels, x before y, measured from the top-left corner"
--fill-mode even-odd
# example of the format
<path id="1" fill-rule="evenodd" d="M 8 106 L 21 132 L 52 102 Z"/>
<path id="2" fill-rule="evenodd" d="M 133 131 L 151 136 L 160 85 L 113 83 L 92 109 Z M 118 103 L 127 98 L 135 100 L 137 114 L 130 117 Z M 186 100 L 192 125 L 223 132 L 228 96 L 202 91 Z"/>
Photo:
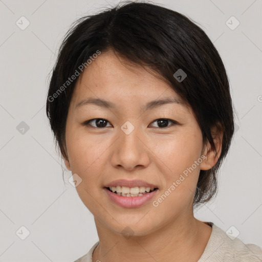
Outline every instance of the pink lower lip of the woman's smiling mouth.
<path id="1" fill-rule="evenodd" d="M 151 200 L 157 193 L 158 189 L 146 193 L 144 195 L 140 195 L 139 197 L 122 197 L 122 195 L 118 195 L 116 193 L 111 192 L 110 190 L 104 188 L 106 191 L 108 197 L 115 202 L 117 205 L 121 207 L 127 207 L 127 208 L 134 208 L 134 207 L 140 207 L 147 203 L 149 200 Z"/>

